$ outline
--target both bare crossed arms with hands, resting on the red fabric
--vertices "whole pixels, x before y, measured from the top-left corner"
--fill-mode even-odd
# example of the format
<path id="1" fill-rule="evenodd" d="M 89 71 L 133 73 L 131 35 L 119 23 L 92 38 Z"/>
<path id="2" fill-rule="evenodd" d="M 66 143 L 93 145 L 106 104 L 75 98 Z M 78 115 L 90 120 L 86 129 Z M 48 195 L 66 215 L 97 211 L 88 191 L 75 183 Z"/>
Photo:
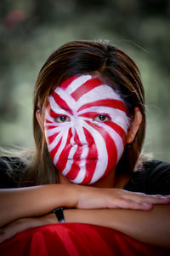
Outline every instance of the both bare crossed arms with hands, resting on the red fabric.
<path id="1" fill-rule="evenodd" d="M 152 245 L 170 248 L 170 196 L 123 189 L 53 184 L 0 191 L 0 242 L 21 230 L 56 223 L 56 207 L 66 222 L 99 224 Z M 6 226 L 5 226 L 6 225 Z"/>

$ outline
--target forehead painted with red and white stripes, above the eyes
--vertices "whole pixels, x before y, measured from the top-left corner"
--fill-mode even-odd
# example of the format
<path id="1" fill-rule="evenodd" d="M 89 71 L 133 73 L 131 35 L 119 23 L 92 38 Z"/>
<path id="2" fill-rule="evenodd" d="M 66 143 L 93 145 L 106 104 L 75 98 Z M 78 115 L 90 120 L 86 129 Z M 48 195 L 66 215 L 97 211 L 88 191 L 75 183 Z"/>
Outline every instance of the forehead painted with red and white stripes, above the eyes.
<path id="1" fill-rule="evenodd" d="M 108 84 L 91 75 L 71 76 L 60 84 L 49 96 L 49 102 L 55 102 L 59 108 L 83 108 L 108 106 L 126 111 L 121 96 Z M 53 104 L 54 105 L 54 104 Z"/>

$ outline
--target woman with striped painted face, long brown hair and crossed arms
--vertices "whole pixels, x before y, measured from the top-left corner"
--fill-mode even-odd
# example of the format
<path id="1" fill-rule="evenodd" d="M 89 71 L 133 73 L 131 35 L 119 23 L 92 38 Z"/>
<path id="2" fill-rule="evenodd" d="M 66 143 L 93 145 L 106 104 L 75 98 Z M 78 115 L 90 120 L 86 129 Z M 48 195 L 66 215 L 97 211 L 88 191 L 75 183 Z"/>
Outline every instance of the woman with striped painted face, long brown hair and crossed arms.
<path id="1" fill-rule="evenodd" d="M 57 214 L 65 222 L 170 247 L 170 166 L 140 160 L 144 88 L 122 49 L 94 41 L 57 49 L 37 77 L 33 125 L 35 150 L 1 158 L 1 242 L 56 223 L 51 212 L 66 207 Z"/>

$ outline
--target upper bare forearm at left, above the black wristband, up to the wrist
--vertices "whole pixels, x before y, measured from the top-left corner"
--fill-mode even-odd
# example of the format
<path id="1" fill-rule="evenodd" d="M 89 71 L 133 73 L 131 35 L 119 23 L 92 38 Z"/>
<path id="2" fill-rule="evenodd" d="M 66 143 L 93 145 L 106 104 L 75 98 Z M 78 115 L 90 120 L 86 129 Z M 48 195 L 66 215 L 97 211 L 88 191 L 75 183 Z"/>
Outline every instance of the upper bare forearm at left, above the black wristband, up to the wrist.
<path id="1" fill-rule="evenodd" d="M 74 207 L 75 185 L 51 184 L 0 190 L 0 226 L 17 218 L 40 216 L 56 207 Z"/>

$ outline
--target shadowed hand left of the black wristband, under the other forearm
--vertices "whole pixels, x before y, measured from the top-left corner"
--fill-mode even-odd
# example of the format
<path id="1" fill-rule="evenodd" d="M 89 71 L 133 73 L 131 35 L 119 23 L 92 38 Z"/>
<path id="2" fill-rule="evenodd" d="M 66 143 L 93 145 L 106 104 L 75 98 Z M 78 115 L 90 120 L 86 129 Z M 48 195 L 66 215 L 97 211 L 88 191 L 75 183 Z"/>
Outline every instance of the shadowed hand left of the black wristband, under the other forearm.
<path id="1" fill-rule="evenodd" d="M 54 213 L 38 218 L 20 218 L 0 230 L 0 243 L 15 236 L 17 233 L 46 224 L 57 223 Z"/>

